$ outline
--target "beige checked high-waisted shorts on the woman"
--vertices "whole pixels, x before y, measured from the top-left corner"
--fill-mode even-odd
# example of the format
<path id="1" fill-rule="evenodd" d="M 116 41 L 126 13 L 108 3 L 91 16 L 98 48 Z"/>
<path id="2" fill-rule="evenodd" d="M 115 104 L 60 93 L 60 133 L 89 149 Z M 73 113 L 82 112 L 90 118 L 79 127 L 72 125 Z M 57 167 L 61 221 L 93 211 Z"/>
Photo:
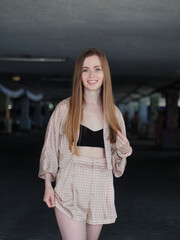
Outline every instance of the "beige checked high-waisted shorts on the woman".
<path id="1" fill-rule="evenodd" d="M 114 223 L 117 218 L 113 173 L 105 158 L 73 155 L 56 177 L 55 207 L 75 221 Z"/>

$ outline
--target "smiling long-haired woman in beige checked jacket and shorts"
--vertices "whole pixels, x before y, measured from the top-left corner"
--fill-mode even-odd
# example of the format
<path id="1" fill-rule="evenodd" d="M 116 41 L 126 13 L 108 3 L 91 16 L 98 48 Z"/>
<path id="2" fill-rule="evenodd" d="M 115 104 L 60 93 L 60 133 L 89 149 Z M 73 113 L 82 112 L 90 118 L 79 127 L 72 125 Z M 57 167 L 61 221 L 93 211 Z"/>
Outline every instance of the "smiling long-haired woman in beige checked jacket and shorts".
<path id="1" fill-rule="evenodd" d="M 115 222 L 113 174 L 122 176 L 131 153 L 106 56 L 86 49 L 76 61 L 72 96 L 51 115 L 40 157 L 43 200 L 54 207 L 63 240 L 96 240 L 103 224 Z"/>

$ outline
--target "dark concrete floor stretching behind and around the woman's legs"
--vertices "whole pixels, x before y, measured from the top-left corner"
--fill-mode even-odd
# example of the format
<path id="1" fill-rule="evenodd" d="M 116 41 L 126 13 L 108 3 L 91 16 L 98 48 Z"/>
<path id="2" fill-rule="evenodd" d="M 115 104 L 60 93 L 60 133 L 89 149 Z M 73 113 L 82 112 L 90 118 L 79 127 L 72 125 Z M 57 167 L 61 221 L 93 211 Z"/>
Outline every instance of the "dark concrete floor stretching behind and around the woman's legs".
<path id="1" fill-rule="evenodd" d="M 129 139 L 133 155 L 123 177 L 114 179 L 118 218 L 103 226 L 100 240 L 179 240 L 180 151 Z M 37 178 L 43 140 L 37 130 L 0 135 L 0 240 L 61 239 Z"/>

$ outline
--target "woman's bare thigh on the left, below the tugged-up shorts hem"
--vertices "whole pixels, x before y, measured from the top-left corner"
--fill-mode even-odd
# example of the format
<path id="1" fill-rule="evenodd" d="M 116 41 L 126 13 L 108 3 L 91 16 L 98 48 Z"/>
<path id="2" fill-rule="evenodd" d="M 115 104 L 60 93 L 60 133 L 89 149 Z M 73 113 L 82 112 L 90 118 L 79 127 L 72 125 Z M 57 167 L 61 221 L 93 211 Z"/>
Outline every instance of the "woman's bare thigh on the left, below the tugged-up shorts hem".
<path id="1" fill-rule="evenodd" d="M 74 221 L 56 207 L 57 223 L 63 240 L 86 240 L 86 223 Z"/>

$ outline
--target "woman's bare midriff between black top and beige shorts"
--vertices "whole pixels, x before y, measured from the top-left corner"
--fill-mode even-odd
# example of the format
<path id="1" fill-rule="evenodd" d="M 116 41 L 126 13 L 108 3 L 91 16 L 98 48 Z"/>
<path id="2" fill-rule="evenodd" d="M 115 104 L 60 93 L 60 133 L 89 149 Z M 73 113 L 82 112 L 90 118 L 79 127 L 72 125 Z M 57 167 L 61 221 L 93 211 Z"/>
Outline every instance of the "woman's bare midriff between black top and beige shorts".
<path id="1" fill-rule="evenodd" d="M 78 153 L 82 157 L 105 158 L 105 149 L 99 147 L 77 147 Z"/>

